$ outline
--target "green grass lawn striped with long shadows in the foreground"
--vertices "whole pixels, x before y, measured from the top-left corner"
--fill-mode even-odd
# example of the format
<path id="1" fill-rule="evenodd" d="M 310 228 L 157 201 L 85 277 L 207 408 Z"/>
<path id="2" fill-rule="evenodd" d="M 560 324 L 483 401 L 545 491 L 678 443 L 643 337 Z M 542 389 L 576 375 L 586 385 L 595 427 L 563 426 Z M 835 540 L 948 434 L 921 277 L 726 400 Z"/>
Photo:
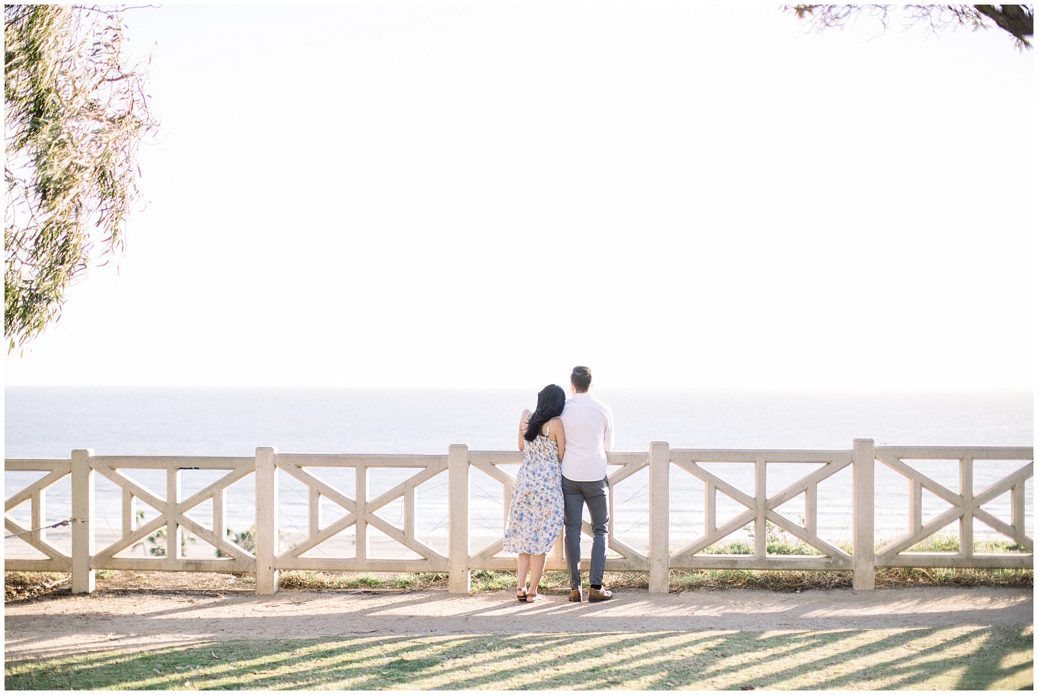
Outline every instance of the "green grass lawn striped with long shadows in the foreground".
<path id="1" fill-rule="evenodd" d="M 342 636 L 7 660 L 7 690 L 1018 690 L 1033 627 Z"/>

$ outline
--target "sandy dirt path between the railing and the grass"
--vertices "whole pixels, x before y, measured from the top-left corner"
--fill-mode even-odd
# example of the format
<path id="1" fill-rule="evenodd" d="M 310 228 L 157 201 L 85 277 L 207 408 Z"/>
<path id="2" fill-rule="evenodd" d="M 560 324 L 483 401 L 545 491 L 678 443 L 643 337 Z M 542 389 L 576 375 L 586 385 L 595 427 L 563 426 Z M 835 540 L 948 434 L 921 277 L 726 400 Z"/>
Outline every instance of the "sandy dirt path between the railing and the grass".
<path id="1" fill-rule="evenodd" d="M 282 591 L 207 596 L 190 593 L 54 595 L 4 609 L 8 659 L 75 651 L 147 649 L 198 640 L 337 635 L 545 634 L 702 630 L 837 630 L 946 625 L 1031 625 L 1032 589 L 908 588 L 854 593 L 698 591 L 610 602 L 541 604 L 510 592 L 453 596 L 441 591 L 389 595 Z"/>

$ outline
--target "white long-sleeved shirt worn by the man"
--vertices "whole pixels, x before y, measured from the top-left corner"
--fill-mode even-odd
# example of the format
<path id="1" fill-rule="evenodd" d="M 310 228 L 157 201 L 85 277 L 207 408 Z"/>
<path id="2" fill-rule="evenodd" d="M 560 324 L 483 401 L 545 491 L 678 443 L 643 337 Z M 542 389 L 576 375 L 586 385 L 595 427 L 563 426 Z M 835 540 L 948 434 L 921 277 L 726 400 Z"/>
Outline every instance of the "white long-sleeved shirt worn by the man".
<path id="1" fill-rule="evenodd" d="M 562 420 L 566 435 L 563 475 L 581 481 L 605 478 L 605 452 L 612 449 L 612 410 L 588 394 L 573 394 Z"/>

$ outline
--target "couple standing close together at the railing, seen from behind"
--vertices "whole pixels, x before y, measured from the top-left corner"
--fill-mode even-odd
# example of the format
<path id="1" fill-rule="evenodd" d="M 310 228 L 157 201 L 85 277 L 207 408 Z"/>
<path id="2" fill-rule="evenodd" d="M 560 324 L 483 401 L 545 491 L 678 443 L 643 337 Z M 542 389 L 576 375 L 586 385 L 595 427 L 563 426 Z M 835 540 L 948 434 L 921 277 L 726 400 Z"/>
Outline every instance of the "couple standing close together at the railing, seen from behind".
<path id="1" fill-rule="evenodd" d="M 592 398 L 590 389 L 591 370 L 574 367 L 569 401 L 562 386 L 549 384 L 537 395 L 537 409 L 523 410 L 519 421 L 519 451 L 526 453 L 516 476 L 504 528 L 504 550 L 519 554 L 519 600 L 544 598 L 537 586 L 544 572 L 545 554 L 554 545 L 564 519 L 570 600 L 583 599 L 580 526 L 585 503 L 595 533 L 588 600 L 612 597 L 612 592 L 602 587 L 609 524 L 605 453 L 612 448 L 612 411 Z"/>

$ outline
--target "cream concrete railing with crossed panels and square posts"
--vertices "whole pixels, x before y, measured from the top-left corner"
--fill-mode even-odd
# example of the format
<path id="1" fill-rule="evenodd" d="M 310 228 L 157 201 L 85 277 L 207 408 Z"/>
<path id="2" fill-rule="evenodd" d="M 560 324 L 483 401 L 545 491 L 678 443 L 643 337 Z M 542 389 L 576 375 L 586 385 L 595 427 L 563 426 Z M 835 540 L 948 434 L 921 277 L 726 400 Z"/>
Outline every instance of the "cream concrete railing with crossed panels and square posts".
<path id="1" fill-rule="evenodd" d="M 608 547 L 614 557 L 606 559 L 606 569 L 648 571 L 649 590 L 667 591 L 671 569 L 798 569 L 851 570 L 853 587 L 871 590 L 875 567 L 980 567 L 1033 568 L 1034 541 L 1025 527 L 1025 485 L 1034 476 L 1034 450 L 1022 447 L 875 447 L 872 439 L 855 439 L 848 450 L 698 450 L 671 449 L 665 442 L 653 442 L 648 452 L 608 455 L 613 466 L 609 474 L 610 488 L 635 473 L 649 470 L 649 549 L 648 555 L 630 547 L 610 534 Z M 957 461 L 960 492 L 946 486 L 912 467 L 906 460 L 936 459 Z M 903 536 L 875 550 L 874 490 L 876 461 L 902 475 L 909 487 L 909 529 Z M 1001 480 L 974 492 L 973 474 L 977 461 L 1020 461 L 1022 465 Z M 278 573 L 286 569 L 355 570 L 388 572 L 448 572 L 452 592 L 469 590 L 473 569 L 511 569 L 515 559 L 497 557 L 502 552 L 502 539 L 475 552 L 470 547 L 470 472 L 482 471 L 502 485 L 503 513 L 509 503 L 515 478 L 502 466 L 515 466 L 522 461 L 517 451 L 469 451 L 465 445 L 453 445 L 443 455 L 353 455 L 353 454 L 281 454 L 276 449 L 261 447 L 254 457 L 179 457 L 179 456 L 97 456 L 91 450 L 76 450 L 69 459 L 6 459 L 7 472 L 40 472 L 45 475 L 9 497 L 5 503 L 5 527 L 37 550 L 46 559 L 5 558 L 7 570 L 71 571 L 73 592 L 93 590 L 98 569 L 234 571 L 254 573 L 256 592 L 270 594 L 277 590 Z M 1026 461 L 1026 462 L 1025 462 Z M 754 469 L 754 489 L 739 489 L 711 473 L 703 463 L 748 463 Z M 769 465 L 813 463 L 817 467 L 784 489 L 768 493 Z M 704 484 L 704 533 L 684 547 L 671 547 L 671 466 L 675 465 Z M 619 467 L 617 467 L 619 466 Z M 315 470 L 332 467 L 353 470 L 353 496 L 348 496 Z M 818 485 L 836 473 L 850 467 L 852 473 L 852 549 L 846 552 L 827 542 L 818 534 Z M 370 499 L 368 472 L 374 469 L 414 469 L 416 473 L 385 492 Z M 158 470 L 165 472 L 165 494 L 159 494 L 126 472 Z M 225 472 L 214 482 L 186 499 L 181 494 L 181 476 L 186 470 Z M 290 549 L 279 547 L 277 522 L 279 475 L 291 476 L 307 490 L 307 522 L 305 537 Z M 448 546 L 446 555 L 425 543 L 416 534 L 417 488 L 437 475 L 446 473 L 448 483 Z M 121 528 L 111 529 L 116 539 L 103 549 L 95 549 L 98 524 L 94 483 L 100 475 L 121 491 Z M 72 526 L 71 555 L 48 542 L 46 527 L 46 492 L 58 481 L 71 476 Z M 231 542 L 226 526 L 226 492 L 231 484 L 254 477 L 255 546 L 249 551 Z M 951 507 L 924 524 L 922 493 L 926 489 Z M 717 492 L 745 507 L 733 518 L 717 524 Z M 1000 519 L 981 508 L 982 505 L 1009 493 L 1011 523 Z M 802 525 L 777 510 L 780 506 L 803 496 Z M 609 496 L 610 518 L 613 496 Z M 325 524 L 322 500 L 328 500 L 345 510 L 345 514 Z M 390 524 L 376 512 L 398 500 L 403 501 L 402 524 Z M 141 524 L 136 505 L 141 501 L 158 510 L 158 516 Z M 193 518 L 189 512 L 212 502 L 212 529 Z M 20 505 L 30 505 L 30 524 L 23 527 L 10 516 Z M 1026 553 L 974 553 L 973 522 L 979 518 L 995 531 L 1008 536 Z M 940 531 L 955 520 L 959 525 L 958 553 L 912 553 L 911 546 Z M 767 529 L 771 525 L 792 534 L 818 555 L 771 555 L 767 552 Z M 740 528 L 752 526 L 754 552 L 749 555 L 707 554 L 726 536 Z M 48 527 L 50 528 L 50 527 Z M 416 559 L 385 559 L 368 557 L 368 529 L 376 529 L 408 549 Z M 139 544 L 146 537 L 165 529 L 163 557 L 117 557 L 119 553 Z M 355 554 L 352 558 L 304 557 L 336 534 L 352 529 Z M 584 522 L 583 530 L 591 533 Z M 224 556 L 218 559 L 183 557 L 182 534 L 193 534 Z M 619 557 L 617 557 L 619 556 Z M 586 565 L 588 559 L 582 559 Z M 547 560 L 548 569 L 566 569 L 562 538 Z"/>

